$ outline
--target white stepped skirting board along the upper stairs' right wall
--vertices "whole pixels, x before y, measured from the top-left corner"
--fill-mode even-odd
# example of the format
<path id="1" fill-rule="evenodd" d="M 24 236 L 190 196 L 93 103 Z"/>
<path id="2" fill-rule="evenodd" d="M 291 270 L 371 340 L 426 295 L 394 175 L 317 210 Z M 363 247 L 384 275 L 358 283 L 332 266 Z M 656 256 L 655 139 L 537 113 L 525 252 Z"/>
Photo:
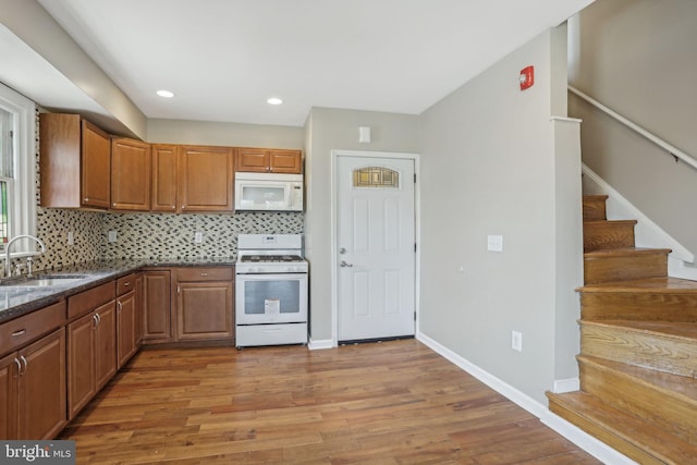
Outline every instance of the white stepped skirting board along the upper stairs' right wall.
<path id="1" fill-rule="evenodd" d="M 632 219 L 638 221 L 634 228 L 634 236 L 637 247 L 670 248 L 673 250 L 669 255 L 670 258 L 690 264 L 695 261 L 695 255 L 692 252 L 651 221 L 649 217 L 632 205 L 629 200 L 612 188 L 610 184 L 596 174 L 590 168 L 583 164 L 582 171 L 584 173 L 584 194 L 604 194 L 609 196 L 608 201 L 606 203 L 609 220 Z"/>

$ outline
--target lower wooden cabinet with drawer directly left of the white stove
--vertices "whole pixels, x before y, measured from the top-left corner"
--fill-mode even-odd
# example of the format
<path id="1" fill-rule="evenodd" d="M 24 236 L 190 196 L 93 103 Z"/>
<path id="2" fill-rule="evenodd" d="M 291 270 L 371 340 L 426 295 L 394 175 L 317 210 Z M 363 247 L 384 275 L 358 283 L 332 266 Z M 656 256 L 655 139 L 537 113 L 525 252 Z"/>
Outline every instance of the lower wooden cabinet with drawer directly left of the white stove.
<path id="1" fill-rule="evenodd" d="M 176 340 L 233 339 L 232 268 L 176 269 Z"/>

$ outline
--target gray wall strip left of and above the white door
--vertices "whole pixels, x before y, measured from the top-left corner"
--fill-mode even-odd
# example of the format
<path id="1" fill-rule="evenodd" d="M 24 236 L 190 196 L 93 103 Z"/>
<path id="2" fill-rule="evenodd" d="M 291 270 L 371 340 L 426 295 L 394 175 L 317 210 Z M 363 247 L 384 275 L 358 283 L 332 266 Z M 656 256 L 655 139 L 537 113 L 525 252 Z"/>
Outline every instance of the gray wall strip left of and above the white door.
<path id="1" fill-rule="evenodd" d="M 358 143 L 358 126 L 371 127 L 371 143 Z M 418 152 L 418 117 L 313 108 L 306 122 L 307 205 L 305 246 L 310 262 L 313 341 L 332 339 L 331 319 L 331 151 Z"/>

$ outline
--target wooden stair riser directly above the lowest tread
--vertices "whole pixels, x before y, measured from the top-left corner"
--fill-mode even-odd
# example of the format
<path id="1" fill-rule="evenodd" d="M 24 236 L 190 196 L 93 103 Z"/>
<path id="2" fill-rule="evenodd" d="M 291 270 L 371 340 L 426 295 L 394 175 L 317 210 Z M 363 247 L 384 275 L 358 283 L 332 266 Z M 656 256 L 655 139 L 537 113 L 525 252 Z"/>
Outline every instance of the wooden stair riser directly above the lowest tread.
<path id="1" fill-rule="evenodd" d="M 697 403 L 579 359 L 580 389 L 697 445 Z"/>

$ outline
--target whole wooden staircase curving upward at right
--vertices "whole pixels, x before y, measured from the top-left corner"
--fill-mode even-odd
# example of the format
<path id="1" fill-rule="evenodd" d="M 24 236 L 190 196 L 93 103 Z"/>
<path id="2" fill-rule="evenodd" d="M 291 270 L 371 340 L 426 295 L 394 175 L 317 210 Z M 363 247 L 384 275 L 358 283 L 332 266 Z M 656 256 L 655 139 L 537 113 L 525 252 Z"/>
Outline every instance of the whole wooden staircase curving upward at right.
<path id="1" fill-rule="evenodd" d="M 697 282 L 584 197 L 580 391 L 549 408 L 640 464 L 697 464 Z"/>

